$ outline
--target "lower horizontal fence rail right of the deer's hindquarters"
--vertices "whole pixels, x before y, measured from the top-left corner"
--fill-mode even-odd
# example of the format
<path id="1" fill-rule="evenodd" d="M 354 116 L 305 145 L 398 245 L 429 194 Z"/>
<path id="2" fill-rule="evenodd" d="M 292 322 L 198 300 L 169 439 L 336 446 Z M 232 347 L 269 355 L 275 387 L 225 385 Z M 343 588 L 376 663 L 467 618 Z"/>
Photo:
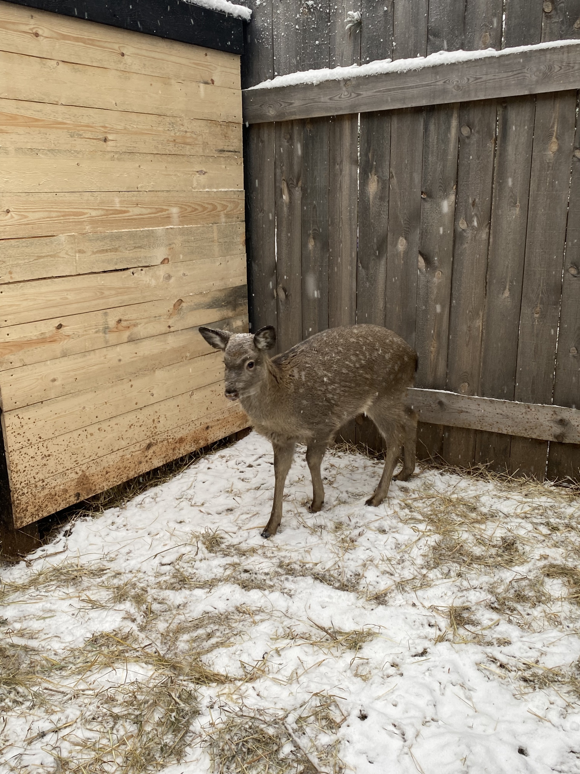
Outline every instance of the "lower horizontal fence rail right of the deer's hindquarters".
<path id="1" fill-rule="evenodd" d="M 424 422 L 580 443 L 578 409 L 417 388 L 409 390 L 409 401 Z"/>

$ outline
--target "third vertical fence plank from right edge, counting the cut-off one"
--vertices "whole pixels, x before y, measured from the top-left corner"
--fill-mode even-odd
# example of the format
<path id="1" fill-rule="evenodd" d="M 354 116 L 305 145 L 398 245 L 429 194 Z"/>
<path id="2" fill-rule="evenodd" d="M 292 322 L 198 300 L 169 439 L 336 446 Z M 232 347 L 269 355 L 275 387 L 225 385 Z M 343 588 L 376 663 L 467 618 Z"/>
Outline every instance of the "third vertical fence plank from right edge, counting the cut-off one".
<path id="1" fill-rule="evenodd" d="M 503 46 L 539 43 L 540 3 L 507 0 Z M 535 98 L 513 98 L 498 105 L 496 163 L 483 313 L 479 395 L 513 400 L 517 339 L 524 276 Z M 476 433 L 476 462 L 496 471 L 510 467 L 511 437 Z"/>

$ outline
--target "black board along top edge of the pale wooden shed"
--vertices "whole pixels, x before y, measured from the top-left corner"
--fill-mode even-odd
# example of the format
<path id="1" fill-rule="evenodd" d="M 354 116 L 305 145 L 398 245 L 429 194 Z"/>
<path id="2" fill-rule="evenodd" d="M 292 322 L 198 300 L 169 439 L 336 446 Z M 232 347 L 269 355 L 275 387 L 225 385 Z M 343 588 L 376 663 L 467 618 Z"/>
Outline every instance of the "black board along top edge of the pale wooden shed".
<path id="1" fill-rule="evenodd" d="M 163 0 L 157 2 L 117 0 L 114 5 L 100 0 L 12 0 L 17 5 L 88 19 L 135 33 L 180 40 L 220 51 L 243 53 L 242 20 L 200 5 Z M 167 10 L 165 11 L 165 5 Z"/>

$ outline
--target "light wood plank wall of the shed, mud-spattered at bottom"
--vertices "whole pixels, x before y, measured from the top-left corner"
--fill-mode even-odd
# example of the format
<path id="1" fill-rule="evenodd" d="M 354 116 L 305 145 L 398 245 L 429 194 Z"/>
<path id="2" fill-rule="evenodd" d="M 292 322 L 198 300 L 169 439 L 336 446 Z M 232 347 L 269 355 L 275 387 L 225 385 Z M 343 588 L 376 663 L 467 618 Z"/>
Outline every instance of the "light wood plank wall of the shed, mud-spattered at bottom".
<path id="1" fill-rule="evenodd" d="M 0 2 L 0 408 L 14 526 L 247 426 L 240 57 Z"/>

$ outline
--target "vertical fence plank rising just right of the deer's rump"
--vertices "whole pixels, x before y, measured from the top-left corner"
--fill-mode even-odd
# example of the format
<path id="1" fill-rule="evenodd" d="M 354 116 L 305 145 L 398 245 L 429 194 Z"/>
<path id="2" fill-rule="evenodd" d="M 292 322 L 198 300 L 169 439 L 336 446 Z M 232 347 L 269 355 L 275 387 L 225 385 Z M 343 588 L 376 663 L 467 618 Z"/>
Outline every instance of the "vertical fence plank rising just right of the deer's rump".
<path id="1" fill-rule="evenodd" d="M 430 0 L 427 53 L 463 46 L 465 0 Z M 415 349 L 418 387 L 445 389 L 459 104 L 425 109 Z M 419 459 L 443 451 L 443 425 L 419 423 Z"/>

